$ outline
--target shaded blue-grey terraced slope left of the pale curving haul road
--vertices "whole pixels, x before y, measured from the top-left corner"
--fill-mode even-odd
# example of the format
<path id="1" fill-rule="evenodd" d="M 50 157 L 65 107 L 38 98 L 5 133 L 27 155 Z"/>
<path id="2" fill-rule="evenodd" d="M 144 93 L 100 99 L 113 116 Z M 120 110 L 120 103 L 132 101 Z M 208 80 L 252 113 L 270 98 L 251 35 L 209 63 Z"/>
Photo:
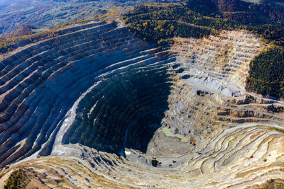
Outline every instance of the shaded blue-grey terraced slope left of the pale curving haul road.
<path id="1" fill-rule="evenodd" d="M 165 58 L 126 29 L 116 29 L 115 23 L 89 24 L 62 34 L 1 62 L 1 166 L 30 156 L 54 137 L 72 103 L 101 74 Z"/>

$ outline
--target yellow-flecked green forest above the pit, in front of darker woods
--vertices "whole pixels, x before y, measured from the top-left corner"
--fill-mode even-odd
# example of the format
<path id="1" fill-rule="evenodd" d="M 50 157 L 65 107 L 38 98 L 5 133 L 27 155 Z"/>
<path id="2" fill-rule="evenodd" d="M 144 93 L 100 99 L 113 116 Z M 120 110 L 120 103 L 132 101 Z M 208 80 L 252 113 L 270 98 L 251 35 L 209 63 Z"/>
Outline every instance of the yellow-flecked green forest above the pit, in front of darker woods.
<path id="1" fill-rule="evenodd" d="M 195 8 L 202 9 L 200 6 Z M 185 4 L 141 4 L 126 13 L 124 19 L 138 38 L 158 44 L 172 43 L 173 40 L 167 39 L 174 37 L 203 38 L 220 29 L 246 28 L 226 19 L 192 11 Z"/>

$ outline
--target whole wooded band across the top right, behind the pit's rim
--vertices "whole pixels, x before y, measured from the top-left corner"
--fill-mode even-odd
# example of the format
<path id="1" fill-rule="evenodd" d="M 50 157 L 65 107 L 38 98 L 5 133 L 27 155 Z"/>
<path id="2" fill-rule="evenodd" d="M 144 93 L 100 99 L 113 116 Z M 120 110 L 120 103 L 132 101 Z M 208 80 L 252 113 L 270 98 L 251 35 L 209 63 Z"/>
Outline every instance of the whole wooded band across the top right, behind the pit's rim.
<path id="1" fill-rule="evenodd" d="M 268 11 L 270 14 L 267 14 Z M 175 4 L 141 4 L 124 15 L 136 36 L 151 42 L 173 37 L 203 38 L 219 30 L 251 30 L 281 44 L 284 6 L 263 1 L 187 0 Z"/>

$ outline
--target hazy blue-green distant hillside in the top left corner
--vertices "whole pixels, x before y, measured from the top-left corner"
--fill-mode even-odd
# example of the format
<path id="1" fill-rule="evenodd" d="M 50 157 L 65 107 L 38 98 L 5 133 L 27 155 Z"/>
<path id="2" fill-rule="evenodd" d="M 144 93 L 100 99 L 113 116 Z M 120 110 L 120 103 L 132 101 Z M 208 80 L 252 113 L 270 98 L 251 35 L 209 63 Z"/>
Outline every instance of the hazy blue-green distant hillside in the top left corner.
<path id="1" fill-rule="evenodd" d="M 143 1 L 143 0 L 142 0 Z M 116 7 L 127 10 L 140 1 L 111 0 L 13 0 L 0 1 L 0 36 L 13 33 L 23 25 L 46 30 L 74 21 L 90 20 Z M 147 1 L 144 1 L 147 2 Z"/>

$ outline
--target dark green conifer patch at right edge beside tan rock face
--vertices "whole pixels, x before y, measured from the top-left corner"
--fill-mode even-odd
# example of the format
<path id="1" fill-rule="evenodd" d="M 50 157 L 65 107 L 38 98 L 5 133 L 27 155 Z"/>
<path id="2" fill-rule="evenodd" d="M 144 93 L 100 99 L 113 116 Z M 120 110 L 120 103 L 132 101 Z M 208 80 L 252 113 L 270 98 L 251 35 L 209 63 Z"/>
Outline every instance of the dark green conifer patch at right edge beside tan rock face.
<path id="1" fill-rule="evenodd" d="M 263 50 L 251 60 L 246 89 L 262 95 L 284 97 L 284 27 L 261 25 L 253 28 L 253 33 L 271 42 L 273 47 Z M 271 107 L 273 111 L 275 108 Z"/>

